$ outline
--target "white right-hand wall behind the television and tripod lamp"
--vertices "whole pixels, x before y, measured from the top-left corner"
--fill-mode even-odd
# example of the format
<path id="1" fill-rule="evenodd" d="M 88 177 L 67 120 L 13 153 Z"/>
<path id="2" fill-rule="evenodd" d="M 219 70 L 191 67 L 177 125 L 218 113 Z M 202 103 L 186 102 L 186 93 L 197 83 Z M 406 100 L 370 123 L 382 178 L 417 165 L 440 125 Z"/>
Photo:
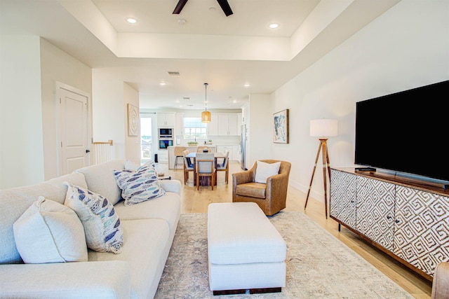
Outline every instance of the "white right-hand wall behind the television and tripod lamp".
<path id="1" fill-rule="evenodd" d="M 292 162 L 292 186 L 309 188 L 319 145 L 309 137 L 311 119 L 339 121 L 330 163 L 351 167 L 356 102 L 449 79 L 448 10 L 444 0 L 403 0 L 272 94 L 273 112 L 290 109 L 290 144 L 272 148 L 274 158 Z M 323 201 L 321 169 L 311 196 Z"/>

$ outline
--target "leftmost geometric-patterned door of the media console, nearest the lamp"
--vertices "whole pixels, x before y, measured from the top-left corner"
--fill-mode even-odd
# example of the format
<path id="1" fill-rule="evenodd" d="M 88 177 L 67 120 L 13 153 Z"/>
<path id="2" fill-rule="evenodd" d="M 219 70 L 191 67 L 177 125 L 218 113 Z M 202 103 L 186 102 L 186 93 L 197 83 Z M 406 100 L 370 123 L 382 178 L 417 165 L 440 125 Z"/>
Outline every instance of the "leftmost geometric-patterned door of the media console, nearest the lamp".
<path id="1" fill-rule="evenodd" d="M 330 216 L 356 228 L 356 176 L 330 169 Z"/>

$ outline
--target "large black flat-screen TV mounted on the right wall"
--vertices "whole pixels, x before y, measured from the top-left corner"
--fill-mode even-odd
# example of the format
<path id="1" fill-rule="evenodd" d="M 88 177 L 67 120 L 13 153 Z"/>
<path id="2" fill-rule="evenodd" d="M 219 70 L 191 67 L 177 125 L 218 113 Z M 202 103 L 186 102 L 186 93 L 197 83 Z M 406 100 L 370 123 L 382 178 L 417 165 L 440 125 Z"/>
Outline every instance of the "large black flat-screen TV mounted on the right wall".
<path id="1" fill-rule="evenodd" d="M 449 181 L 449 81 L 356 103 L 355 164 Z"/>

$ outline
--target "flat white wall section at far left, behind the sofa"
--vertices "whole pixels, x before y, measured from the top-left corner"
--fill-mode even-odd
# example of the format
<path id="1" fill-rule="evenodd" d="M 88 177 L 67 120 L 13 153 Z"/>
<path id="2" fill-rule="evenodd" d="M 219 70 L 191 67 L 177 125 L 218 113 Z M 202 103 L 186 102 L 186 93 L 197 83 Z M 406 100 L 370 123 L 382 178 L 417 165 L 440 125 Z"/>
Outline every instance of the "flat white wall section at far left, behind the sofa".
<path id="1" fill-rule="evenodd" d="M 0 188 L 44 179 L 39 36 L 0 36 Z"/>

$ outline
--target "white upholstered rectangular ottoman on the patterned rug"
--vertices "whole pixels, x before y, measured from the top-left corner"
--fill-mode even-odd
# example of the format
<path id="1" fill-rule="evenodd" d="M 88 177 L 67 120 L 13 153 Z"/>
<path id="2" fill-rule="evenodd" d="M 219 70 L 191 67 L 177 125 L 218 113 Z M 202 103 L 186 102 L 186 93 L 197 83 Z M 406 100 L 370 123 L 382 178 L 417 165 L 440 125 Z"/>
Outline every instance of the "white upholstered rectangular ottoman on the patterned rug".
<path id="1" fill-rule="evenodd" d="M 286 242 L 254 202 L 208 206 L 209 286 L 214 295 L 280 292 Z"/>

